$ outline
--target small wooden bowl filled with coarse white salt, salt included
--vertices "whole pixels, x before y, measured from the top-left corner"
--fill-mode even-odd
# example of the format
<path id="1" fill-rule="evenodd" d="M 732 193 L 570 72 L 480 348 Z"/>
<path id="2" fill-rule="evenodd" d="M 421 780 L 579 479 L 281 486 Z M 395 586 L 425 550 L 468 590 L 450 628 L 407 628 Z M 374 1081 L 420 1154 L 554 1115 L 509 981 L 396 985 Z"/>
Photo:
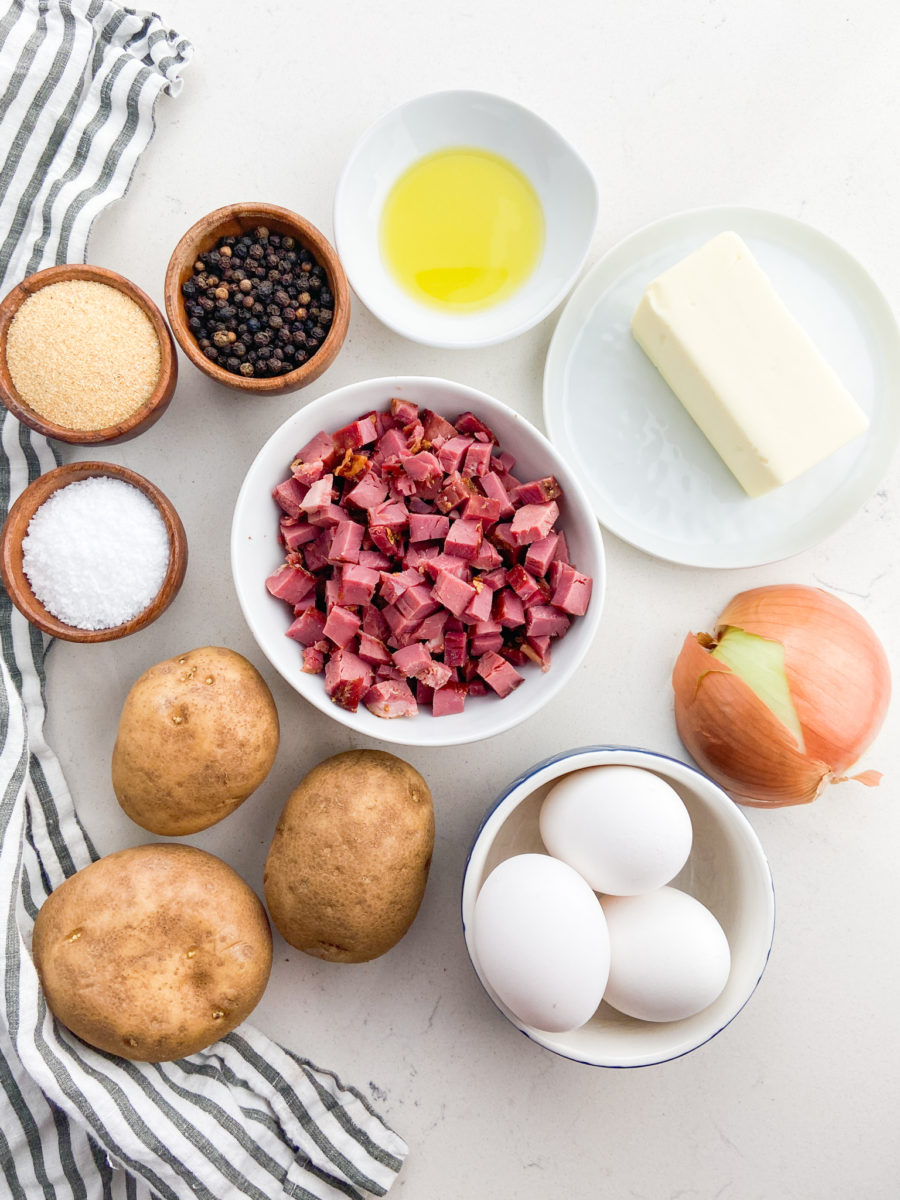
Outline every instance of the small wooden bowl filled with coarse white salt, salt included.
<path id="1" fill-rule="evenodd" d="M 72 462 L 19 496 L 0 533 L 0 576 L 32 625 L 66 642 L 144 629 L 175 599 L 187 538 L 172 502 L 127 467 Z"/>

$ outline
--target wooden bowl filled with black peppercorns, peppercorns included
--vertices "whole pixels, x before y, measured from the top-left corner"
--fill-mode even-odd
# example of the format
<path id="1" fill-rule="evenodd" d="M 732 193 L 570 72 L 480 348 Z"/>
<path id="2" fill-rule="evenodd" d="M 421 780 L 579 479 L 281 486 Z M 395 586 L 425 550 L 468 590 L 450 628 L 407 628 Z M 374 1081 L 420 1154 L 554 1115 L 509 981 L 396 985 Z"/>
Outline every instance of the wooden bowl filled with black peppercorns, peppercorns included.
<path id="1" fill-rule="evenodd" d="M 228 204 L 200 217 L 175 246 L 164 295 L 172 331 L 194 366 L 254 395 L 318 379 L 350 319 L 334 247 L 272 204 Z"/>

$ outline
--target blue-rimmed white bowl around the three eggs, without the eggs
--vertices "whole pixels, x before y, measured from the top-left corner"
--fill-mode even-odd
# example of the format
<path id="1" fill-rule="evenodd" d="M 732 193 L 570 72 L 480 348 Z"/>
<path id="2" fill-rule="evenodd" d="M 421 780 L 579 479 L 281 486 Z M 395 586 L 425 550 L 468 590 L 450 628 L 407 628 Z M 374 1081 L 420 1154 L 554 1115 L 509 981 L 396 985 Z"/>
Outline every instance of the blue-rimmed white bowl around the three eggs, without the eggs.
<path id="1" fill-rule="evenodd" d="M 545 1033 L 523 1025 L 488 984 L 475 954 L 472 916 L 482 883 L 514 854 L 546 853 L 538 817 L 544 797 L 574 770 L 641 767 L 682 797 L 694 826 L 690 857 L 672 886 L 713 912 L 731 949 L 725 990 L 703 1012 L 682 1021 L 638 1021 L 601 1003 L 578 1030 Z M 584 746 L 556 755 L 515 780 L 490 809 L 472 850 L 462 887 L 462 924 L 469 958 L 485 991 L 508 1020 L 539 1045 L 593 1067 L 649 1067 L 696 1050 L 746 1004 L 762 978 L 775 930 L 775 894 L 766 854 L 742 810 L 710 779 L 677 758 L 631 746 Z"/>

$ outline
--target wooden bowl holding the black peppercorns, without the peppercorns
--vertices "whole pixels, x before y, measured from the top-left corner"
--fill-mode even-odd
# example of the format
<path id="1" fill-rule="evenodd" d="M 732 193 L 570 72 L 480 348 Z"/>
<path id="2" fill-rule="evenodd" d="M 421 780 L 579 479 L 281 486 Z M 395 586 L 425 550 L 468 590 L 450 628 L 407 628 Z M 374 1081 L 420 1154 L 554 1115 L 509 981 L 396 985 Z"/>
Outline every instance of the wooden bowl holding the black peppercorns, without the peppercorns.
<path id="1" fill-rule="evenodd" d="M 188 328 L 181 295 L 181 286 L 193 277 L 193 264 L 200 254 L 211 250 L 220 238 L 240 238 L 257 226 L 265 226 L 275 233 L 295 238 L 312 251 L 328 276 L 335 313 L 324 342 L 302 366 L 282 376 L 268 376 L 258 379 L 233 374 L 206 358 Z M 199 367 L 210 379 L 223 383 L 227 388 L 235 388 L 238 391 L 256 396 L 278 396 L 283 392 L 296 391 L 312 383 L 313 379 L 318 379 L 337 358 L 350 320 L 350 289 L 337 252 L 316 226 L 295 212 L 274 204 L 228 204 L 209 212 L 205 217 L 200 217 L 196 224 L 191 226 L 172 253 L 166 271 L 164 298 L 172 331 L 193 365 Z"/>

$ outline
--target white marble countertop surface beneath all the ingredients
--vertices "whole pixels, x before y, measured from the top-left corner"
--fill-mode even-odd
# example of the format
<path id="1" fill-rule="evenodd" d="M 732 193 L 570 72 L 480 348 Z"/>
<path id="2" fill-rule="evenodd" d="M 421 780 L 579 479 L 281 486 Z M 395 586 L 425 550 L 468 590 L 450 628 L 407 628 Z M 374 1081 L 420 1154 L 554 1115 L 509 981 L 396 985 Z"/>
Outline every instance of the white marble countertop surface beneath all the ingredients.
<path id="1" fill-rule="evenodd" d="M 900 305 L 900 14 L 892 0 L 365 0 L 215 5 L 166 0 L 197 48 L 182 95 L 127 198 L 97 221 L 90 259 L 162 304 L 169 253 L 200 215 L 265 199 L 331 233 L 342 163 L 386 109 L 425 91 L 497 91 L 535 109 L 593 167 L 601 211 L 588 266 L 640 226 L 745 204 L 829 234 Z M 191 560 L 151 628 L 50 655 L 49 738 L 102 852 L 146 840 L 115 803 L 119 710 L 152 662 L 230 646 L 263 671 L 282 721 L 257 794 L 190 839 L 258 890 L 276 817 L 316 762 L 361 745 L 307 706 L 258 652 L 228 564 L 232 506 L 257 449 L 298 404 L 366 377 L 439 374 L 541 425 L 541 374 L 558 312 L 506 344 L 448 352 L 384 329 L 360 302 L 349 337 L 306 391 L 242 400 L 181 359 L 163 420 L 103 456 L 175 502 Z M 67 458 L 91 457 L 66 452 Z M 460 926 L 466 853 L 492 798 L 556 751 L 625 743 L 684 756 L 672 664 L 742 588 L 815 583 L 853 604 L 900 664 L 900 473 L 815 550 L 754 570 L 692 570 L 606 538 L 596 642 L 568 695 L 490 744 L 403 751 L 436 797 L 437 845 L 408 936 L 365 966 L 322 964 L 276 940 L 265 1032 L 360 1087 L 410 1145 L 394 1195 L 880 1200 L 900 1152 L 900 739 L 896 710 L 864 766 L 814 805 L 748 810 L 772 864 L 778 924 L 768 971 L 739 1018 L 685 1058 L 593 1069 L 530 1044 L 494 1009 Z M 374 743 L 372 743 L 374 744 Z"/>

